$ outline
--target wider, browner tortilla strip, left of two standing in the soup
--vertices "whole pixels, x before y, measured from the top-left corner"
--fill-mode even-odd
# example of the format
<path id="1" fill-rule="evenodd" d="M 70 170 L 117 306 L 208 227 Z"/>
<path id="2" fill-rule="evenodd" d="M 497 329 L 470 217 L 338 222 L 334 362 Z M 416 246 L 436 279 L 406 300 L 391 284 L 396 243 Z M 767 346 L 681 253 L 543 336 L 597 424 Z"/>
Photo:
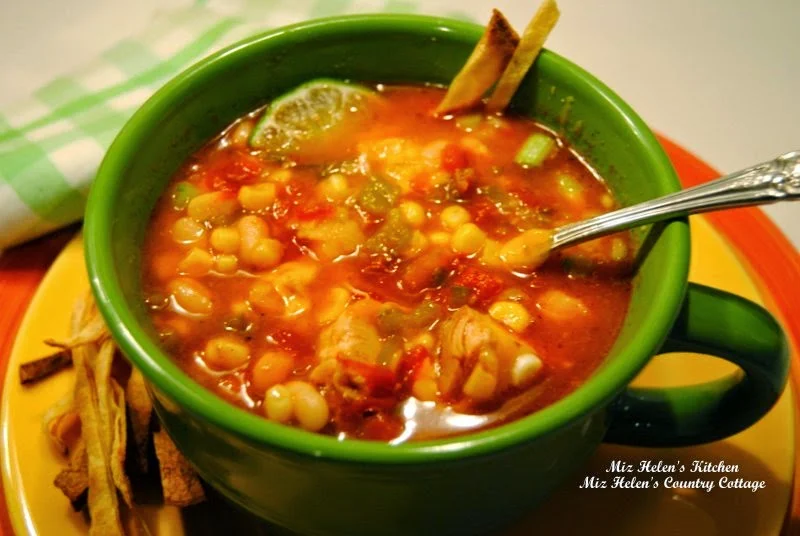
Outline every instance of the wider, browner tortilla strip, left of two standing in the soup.
<path id="1" fill-rule="evenodd" d="M 492 18 L 467 63 L 450 84 L 436 108 L 444 115 L 474 106 L 502 74 L 519 43 L 519 36 L 503 14 L 492 10 Z"/>

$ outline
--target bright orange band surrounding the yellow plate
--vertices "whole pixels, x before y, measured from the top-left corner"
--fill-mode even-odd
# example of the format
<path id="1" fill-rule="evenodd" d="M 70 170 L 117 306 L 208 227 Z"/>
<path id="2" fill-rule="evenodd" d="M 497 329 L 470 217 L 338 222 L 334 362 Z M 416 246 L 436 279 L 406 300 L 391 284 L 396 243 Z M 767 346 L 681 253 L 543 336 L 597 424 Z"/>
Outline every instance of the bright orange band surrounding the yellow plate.
<path id="1" fill-rule="evenodd" d="M 674 142 L 662 137 L 661 143 L 684 186 L 694 186 L 719 176 L 717 171 Z M 789 289 L 800 288 L 800 254 L 758 209 L 734 209 L 707 217 L 734 247 L 753 279 L 760 283 L 765 302 L 780 318 L 793 348 L 800 348 L 800 302 L 792 299 L 789 292 Z M 0 385 L 7 372 L 15 373 L 6 368 L 22 316 L 39 282 L 76 230 L 73 227 L 60 231 L 0 255 Z M 796 296 L 796 290 L 794 292 Z M 791 381 L 795 392 L 800 392 L 800 361 L 792 363 Z M 798 434 L 800 436 L 800 427 Z M 800 463 L 795 465 L 794 493 L 787 512 L 785 534 L 800 531 L 798 468 Z M 2 500 L 0 536 L 12 535 L 6 503 Z"/>

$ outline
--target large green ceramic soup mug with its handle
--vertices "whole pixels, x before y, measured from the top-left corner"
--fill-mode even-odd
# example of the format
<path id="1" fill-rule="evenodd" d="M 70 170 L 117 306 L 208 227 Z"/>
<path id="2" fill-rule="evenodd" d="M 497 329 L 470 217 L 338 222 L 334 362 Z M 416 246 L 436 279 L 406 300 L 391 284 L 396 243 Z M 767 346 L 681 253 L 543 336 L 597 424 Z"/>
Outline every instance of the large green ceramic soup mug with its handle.
<path id="1" fill-rule="evenodd" d="M 255 514 L 311 534 L 467 534 L 506 525 L 604 440 L 712 441 L 758 420 L 787 375 L 786 341 L 759 306 L 688 285 L 686 220 L 650 233 L 630 312 L 608 359 L 578 390 L 527 418 L 456 439 L 389 446 L 283 427 L 204 390 L 148 328 L 140 246 L 171 174 L 235 118 L 319 77 L 447 83 L 480 37 L 472 24 L 414 16 L 313 21 L 254 37 L 192 67 L 134 115 L 102 163 L 86 216 L 91 284 L 114 339 L 147 378 L 163 425 L 200 475 Z M 516 110 L 562 132 L 623 203 L 679 188 L 641 119 L 545 51 Z M 666 350 L 723 357 L 743 374 L 678 389 L 631 390 Z"/>

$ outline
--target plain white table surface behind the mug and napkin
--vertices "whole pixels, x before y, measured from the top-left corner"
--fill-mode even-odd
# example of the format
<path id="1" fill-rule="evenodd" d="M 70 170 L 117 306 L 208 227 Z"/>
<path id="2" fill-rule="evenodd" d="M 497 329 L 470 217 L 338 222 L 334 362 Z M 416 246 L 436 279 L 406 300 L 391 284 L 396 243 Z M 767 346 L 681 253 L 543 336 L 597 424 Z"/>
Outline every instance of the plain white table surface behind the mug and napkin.
<path id="1" fill-rule="evenodd" d="M 389 3 L 291 0 L 290 5 L 321 1 L 348 5 L 351 12 L 375 11 Z M 0 17 L 0 72 L 5 73 L 0 108 L 141 31 L 157 11 L 188 3 L 5 2 Z M 536 2 L 424 4 L 434 13 L 457 8 L 476 20 L 487 19 L 490 7 L 498 7 L 521 29 Z M 800 149 L 797 0 L 560 0 L 560 6 L 562 18 L 548 47 L 594 73 L 655 130 L 717 169 L 734 171 Z M 800 249 L 800 204 L 772 205 L 765 211 Z"/>

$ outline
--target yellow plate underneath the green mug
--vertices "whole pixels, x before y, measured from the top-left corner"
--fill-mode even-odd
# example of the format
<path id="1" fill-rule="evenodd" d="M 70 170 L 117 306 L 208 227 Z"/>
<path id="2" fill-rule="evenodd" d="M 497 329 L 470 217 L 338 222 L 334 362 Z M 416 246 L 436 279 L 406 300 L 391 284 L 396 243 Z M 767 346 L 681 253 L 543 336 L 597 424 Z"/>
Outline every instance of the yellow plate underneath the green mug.
<path id="1" fill-rule="evenodd" d="M 702 218 L 692 221 L 692 281 L 735 292 L 761 302 L 754 282 L 724 239 Z M 60 536 L 87 532 L 83 516 L 72 511 L 53 485 L 63 464 L 47 442 L 41 422 L 48 407 L 67 395 L 72 372 L 33 387 L 22 387 L 16 370 L 20 363 L 46 355 L 43 339 L 66 337 L 75 300 L 87 289 L 80 239 L 70 243 L 42 281 L 17 335 L 3 388 L 3 485 L 12 524 L 18 534 Z M 705 381 L 729 372 L 732 366 L 716 359 L 690 355 L 660 356 L 637 378 L 647 385 L 676 385 Z M 532 512 L 511 534 L 667 535 L 777 534 L 789 504 L 794 471 L 794 417 L 790 388 L 778 404 L 748 430 L 707 445 L 680 449 L 644 449 L 602 445 L 592 460 L 566 482 L 541 508 Z M 764 481 L 757 492 L 749 489 L 580 489 L 587 476 L 605 478 L 612 460 L 638 465 L 643 460 L 684 464 L 701 460 L 738 465 L 730 478 Z M 642 475 L 639 475 L 642 476 Z M 658 479 L 668 475 L 661 475 Z M 681 480 L 689 480 L 680 474 Z M 698 475 L 692 475 L 696 478 Z M 716 481 L 722 474 L 699 475 Z M 646 478 L 646 477 L 645 477 Z M 357 507 L 357 505 L 354 505 Z M 211 513 L 213 511 L 213 514 Z M 226 505 L 176 508 L 149 507 L 144 517 L 153 535 L 232 532 L 234 526 L 261 529 Z M 217 523 L 214 522 L 217 520 Z M 237 532 L 237 531 L 233 531 Z"/>

